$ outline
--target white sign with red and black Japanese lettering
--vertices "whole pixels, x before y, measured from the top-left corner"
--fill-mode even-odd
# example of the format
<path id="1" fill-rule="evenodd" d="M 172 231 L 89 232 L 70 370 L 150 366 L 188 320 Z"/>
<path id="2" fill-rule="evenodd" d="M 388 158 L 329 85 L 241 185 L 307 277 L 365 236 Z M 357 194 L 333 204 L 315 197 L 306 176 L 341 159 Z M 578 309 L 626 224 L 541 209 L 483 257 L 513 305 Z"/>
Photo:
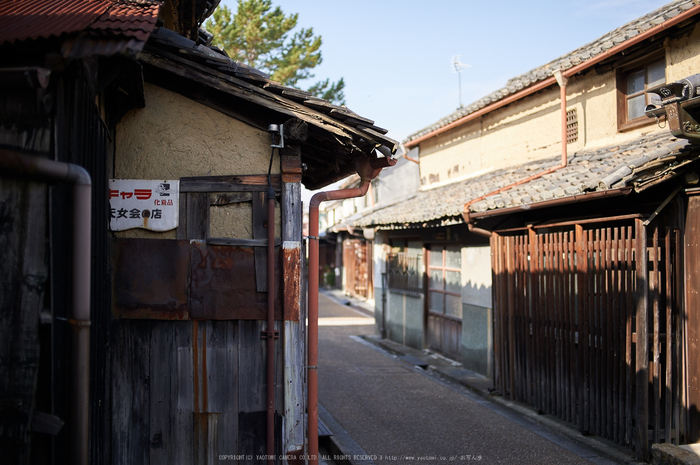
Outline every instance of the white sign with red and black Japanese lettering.
<path id="1" fill-rule="evenodd" d="M 180 181 L 110 179 L 109 229 L 175 229 L 179 221 L 179 198 Z"/>

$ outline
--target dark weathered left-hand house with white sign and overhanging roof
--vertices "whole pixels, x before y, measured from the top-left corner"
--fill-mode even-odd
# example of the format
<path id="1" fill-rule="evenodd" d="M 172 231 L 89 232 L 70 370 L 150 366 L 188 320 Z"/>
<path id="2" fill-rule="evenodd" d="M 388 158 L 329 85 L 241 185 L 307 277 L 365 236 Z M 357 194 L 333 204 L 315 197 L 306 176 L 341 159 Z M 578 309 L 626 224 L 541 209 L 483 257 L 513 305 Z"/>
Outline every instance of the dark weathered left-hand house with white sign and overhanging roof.
<path id="1" fill-rule="evenodd" d="M 215 3 L 0 6 L 4 460 L 294 463 L 315 435 L 301 185 L 396 143 L 208 46 Z"/>

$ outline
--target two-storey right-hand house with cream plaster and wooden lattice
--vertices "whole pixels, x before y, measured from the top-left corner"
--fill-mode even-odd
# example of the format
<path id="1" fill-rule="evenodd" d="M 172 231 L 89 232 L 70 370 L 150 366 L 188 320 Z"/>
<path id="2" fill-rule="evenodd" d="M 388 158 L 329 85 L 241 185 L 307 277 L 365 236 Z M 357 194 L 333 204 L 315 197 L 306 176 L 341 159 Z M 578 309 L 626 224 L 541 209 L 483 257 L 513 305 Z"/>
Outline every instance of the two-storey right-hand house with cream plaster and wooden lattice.
<path id="1" fill-rule="evenodd" d="M 699 20 L 672 2 L 404 141 L 421 189 L 353 223 L 396 252 L 388 337 L 640 458 L 699 439 Z"/>

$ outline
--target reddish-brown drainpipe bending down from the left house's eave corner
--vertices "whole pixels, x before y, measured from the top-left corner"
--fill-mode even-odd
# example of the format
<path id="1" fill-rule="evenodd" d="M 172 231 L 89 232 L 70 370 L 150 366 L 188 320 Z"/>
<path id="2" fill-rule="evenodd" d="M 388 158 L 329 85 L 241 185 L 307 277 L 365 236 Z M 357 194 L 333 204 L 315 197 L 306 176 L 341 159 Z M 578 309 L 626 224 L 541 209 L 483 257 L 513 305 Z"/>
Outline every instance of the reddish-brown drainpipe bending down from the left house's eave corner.
<path id="1" fill-rule="evenodd" d="M 385 153 L 386 155 L 386 153 Z M 359 187 L 319 192 L 309 202 L 309 328 L 308 328 L 308 437 L 309 463 L 318 465 L 318 207 L 328 200 L 345 200 L 362 197 L 367 193 L 372 179 L 383 167 L 393 166 L 396 160 L 386 158 L 362 158 L 356 161 L 357 174 L 362 182 Z"/>

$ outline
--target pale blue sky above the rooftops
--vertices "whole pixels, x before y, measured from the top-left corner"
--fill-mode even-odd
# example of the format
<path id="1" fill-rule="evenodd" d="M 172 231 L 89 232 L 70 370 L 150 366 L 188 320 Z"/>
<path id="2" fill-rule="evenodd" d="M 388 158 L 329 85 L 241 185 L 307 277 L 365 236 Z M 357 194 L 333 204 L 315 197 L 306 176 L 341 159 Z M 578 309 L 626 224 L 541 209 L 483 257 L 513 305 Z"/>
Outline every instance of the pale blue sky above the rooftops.
<path id="1" fill-rule="evenodd" d="M 323 39 L 312 81 L 343 77 L 348 108 L 403 141 L 462 103 L 667 1 L 273 0 Z M 236 0 L 222 0 L 236 9 Z M 310 83 L 308 83 L 310 85 Z M 302 83 L 300 87 L 307 87 Z"/>

